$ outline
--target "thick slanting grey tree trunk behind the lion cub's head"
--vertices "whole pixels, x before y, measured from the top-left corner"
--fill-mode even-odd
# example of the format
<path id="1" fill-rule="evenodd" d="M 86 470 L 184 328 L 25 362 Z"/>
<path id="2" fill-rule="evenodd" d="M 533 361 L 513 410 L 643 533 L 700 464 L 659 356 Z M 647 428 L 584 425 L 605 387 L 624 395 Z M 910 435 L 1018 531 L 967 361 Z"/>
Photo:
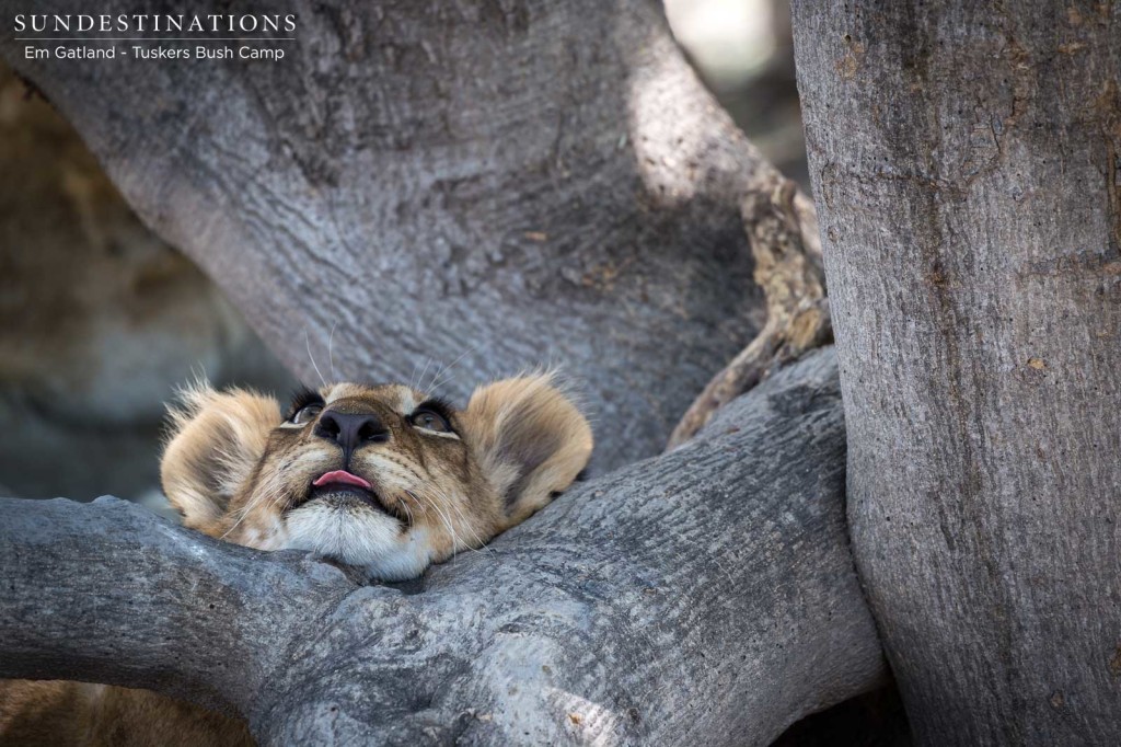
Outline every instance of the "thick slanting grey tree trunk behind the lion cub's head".
<path id="1" fill-rule="evenodd" d="M 239 7 L 253 10 L 297 13 L 285 59 L 29 61 L 10 25 L 0 50 L 307 381 L 312 356 L 342 379 L 462 356 L 453 396 L 566 365 L 602 471 L 658 451 L 761 328 L 741 205 L 777 173 L 657 3 Z"/>

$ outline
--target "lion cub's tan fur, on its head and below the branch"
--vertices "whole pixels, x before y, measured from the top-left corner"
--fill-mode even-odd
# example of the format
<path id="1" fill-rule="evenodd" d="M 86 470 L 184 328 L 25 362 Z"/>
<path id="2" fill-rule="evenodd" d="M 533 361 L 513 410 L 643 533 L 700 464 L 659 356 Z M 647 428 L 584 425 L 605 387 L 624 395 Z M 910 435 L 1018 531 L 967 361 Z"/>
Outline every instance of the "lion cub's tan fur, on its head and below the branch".
<path id="1" fill-rule="evenodd" d="M 399 385 L 325 386 L 305 425 L 241 389 L 196 386 L 172 411 L 160 464 L 184 524 L 260 550 L 304 548 L 372 579 L 419 575 L 479 547 L 567 488 L 587 463 L 592 431 L 547 374 L 480 387 L 452 433 L 410 423 L 426 395 Z M 385 437 L 343 449 L 316 432 L 325 413 L 374 416 Z M 346 469 L 373 488 L 312 488 Z M 372 502 L 371 502 L 372 501 Z M 0 744 L 247 745 L 244 725 L 141 690 L 0 681 Z"/>

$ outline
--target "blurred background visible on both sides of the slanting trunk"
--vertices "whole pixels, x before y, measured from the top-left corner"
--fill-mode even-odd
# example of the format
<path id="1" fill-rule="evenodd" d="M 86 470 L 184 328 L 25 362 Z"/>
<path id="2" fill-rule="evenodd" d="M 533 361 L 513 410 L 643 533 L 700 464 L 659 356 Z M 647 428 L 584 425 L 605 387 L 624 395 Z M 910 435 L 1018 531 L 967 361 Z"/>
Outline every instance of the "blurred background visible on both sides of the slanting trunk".
<path id="1" fill-rule="evenodd" d="M 788 1 L 666 0 L 666 12 L 720 102 L 808 191 Z M 296 386 L 0 63 L 0 494 L 114 495 L 166 511 L 164 407 L 198 376 Z"/>

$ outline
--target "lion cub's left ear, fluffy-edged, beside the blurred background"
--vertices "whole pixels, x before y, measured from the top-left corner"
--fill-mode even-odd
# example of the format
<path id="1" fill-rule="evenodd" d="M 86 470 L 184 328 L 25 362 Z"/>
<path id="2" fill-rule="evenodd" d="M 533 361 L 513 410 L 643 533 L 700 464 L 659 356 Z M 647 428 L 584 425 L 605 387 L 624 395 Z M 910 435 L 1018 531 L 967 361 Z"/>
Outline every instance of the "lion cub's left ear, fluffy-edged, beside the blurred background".
<path id="1" fill-rule="evenodd" d="M 168 408 L 160 481 L 184 524 L 205 532 L 265 454 L 269 432 L 282 419 L 280 405 L 244 389 L 215 391 L 205 384 L 180 398 L 180 406 Z"/>

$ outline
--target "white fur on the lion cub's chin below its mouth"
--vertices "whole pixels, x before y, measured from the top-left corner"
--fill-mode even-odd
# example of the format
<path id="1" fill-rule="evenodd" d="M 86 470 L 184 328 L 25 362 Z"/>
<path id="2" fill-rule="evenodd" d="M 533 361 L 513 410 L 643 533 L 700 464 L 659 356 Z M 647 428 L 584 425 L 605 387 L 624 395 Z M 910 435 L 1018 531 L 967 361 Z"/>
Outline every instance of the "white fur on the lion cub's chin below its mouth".
<path id="1" fill-rule="evenodd" d="M 396 519 L 371 510 L 313 501 L 288 514 L 282 548 L 308 550 L 364 568 L 381 581 L 415 579 L 430 562 L 427 533 L 421 528 L 402 533 L 400 527 Z"/>

